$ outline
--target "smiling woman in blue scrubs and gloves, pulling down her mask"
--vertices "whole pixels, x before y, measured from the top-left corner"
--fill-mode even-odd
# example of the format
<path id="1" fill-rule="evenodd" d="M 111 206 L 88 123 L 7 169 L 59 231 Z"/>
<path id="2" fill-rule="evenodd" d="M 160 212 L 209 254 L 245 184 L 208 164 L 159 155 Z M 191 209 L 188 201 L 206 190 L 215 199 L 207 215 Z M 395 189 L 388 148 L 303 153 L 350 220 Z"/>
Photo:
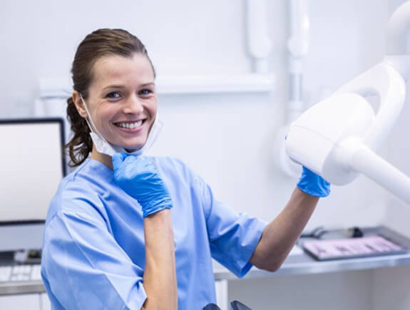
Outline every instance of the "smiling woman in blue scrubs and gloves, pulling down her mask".
<path id="1" fill-rule="evenodd" d="M 66 147 L 79 167 L 58 187 L 43 239 L 53 309 L 202 309 L 215 303 L 211 257 L 238 277 L 280 267 L 327 182 L 304 169 L 273 222 L 237 215 L 183 162 L 141 155 L 158 118 L 138 38 L 94 31 L 71 72 Z"/>

